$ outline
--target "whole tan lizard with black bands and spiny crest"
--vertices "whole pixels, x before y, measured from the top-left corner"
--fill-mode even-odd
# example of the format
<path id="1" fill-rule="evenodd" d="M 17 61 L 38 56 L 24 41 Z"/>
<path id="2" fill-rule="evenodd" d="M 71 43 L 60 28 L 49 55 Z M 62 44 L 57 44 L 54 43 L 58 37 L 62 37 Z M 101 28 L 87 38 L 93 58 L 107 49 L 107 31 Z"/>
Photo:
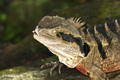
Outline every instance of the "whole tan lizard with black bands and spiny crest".
<path id="1" fill-rule="evenodd" d="M 45 16 L 33 37 L 91 80 L 109 80 L 106 73 L 120 70 L 120 19 L 89 27 L 80 18 Z"/>

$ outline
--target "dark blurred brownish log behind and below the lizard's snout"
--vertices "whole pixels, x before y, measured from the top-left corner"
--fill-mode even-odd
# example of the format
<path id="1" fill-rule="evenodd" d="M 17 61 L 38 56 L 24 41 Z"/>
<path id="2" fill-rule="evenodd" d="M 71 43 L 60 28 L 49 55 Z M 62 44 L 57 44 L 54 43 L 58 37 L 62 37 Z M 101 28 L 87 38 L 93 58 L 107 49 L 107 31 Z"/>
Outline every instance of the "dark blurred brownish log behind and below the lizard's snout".
<path id="1" fill-rule="evenodd" d="M 7 46 L 0 56 L 0 69 L 10 68 L 18 65 L 31 64 L 37 59 L 51 56 L 45 46 L 33 39 L 29 35 L 21 42 Z"/>

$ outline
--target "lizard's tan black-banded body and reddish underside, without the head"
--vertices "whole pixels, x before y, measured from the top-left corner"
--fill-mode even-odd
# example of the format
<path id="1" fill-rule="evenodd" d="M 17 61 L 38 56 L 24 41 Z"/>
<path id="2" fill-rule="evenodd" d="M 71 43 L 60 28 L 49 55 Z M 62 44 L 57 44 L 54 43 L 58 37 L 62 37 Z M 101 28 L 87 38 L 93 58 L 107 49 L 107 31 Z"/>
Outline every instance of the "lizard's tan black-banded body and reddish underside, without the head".
<path id="1" fill-rule="evenodd" d="M 105 73 L 120 70 L 120 20 L 116 19 L 94 27 L 85 27 L 85 31 L 80 28 L 81 26 L 78 29 L 84 39 L 83 43 L 89 45 L 90 51 L 87 58 L 76 68 L 86 75 L 89 74 L 90 68 L 93 66 L 91 64 L 102 69 Z M 88 70 L 87 66 L 90 67 Z M 93 70 L 96 69 L 93 68 Z M 100 74 L 102 72 L 98 71 L 98 73 L 102 76 Z"/>

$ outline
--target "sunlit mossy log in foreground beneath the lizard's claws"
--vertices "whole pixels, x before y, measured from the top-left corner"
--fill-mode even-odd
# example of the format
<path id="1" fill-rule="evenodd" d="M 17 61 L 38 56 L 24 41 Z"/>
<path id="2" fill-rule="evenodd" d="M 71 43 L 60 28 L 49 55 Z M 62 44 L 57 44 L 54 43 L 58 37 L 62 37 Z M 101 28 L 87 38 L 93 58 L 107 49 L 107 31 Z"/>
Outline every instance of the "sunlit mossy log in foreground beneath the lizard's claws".
<path id="1" fill-rule="evenodd" d="M 51 67 L 40 68 L 42 64 L 49 61 L 57 61 L 57 58 L 55 56 L 49 57 L 38 60 L 31 65 L 2 70 L 0 71 L 0 80 L 90 80 L 88 76 L 83 75 L 76 69 L 69 69 L 66 66 L 62 67 L 61 74 L 58 73 L 58 68 L 56 68 L 50 76 Z M 112 75 L 111 80 L 119 80 L 120 76 L 116 76 L 118 73 L 120 71 L 110 73 L 108 76 Z"/>

